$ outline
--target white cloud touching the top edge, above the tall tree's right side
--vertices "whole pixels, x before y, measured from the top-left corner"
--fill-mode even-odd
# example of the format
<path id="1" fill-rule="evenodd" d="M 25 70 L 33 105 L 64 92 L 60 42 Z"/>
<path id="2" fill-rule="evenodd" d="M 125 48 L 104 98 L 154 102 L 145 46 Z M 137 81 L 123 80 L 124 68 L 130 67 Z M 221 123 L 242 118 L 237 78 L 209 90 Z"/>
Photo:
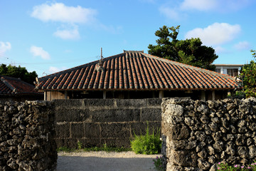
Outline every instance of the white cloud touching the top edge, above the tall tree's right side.
<path id="1" fill-rule="evenodd" d="M 185 0 L 181 3 L 180 8 L 183 10 L 196 9 L 198 11 L 208 11 L 215 9 L 216 0 Z"/>

